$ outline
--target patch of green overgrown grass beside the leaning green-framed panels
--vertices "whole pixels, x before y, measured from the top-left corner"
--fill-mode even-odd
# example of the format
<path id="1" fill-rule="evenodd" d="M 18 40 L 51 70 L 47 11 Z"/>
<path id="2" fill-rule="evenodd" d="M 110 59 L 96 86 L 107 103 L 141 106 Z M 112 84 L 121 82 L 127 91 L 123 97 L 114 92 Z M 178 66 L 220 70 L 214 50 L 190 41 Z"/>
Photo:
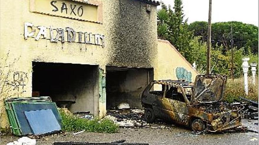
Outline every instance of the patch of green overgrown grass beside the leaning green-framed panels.
<path id="1" fill-rule="evenodd" d="M 63 110 L 59 110 L 62 117 L 62 130 L 66 132 L 79 132 L 85 130 L 86 132 L 118 132 L 118 125 L 109 119 L 94 119 L 87 120 L 76 117 Z"/>

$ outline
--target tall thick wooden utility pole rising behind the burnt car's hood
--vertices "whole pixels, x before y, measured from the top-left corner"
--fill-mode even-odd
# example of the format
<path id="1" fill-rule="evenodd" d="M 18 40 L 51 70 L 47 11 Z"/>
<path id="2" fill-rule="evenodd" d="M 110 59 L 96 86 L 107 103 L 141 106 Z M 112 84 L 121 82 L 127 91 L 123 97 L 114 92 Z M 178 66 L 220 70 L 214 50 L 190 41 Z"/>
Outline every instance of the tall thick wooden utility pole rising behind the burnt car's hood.
<path id="1" fill-rule="evenodd" d="M 209 0 L 209 20 L 208 20 L 208 40 L 207 40 L 207 74 L 210 74 L 211 4 L 212 4 L 212 0 Z"/>

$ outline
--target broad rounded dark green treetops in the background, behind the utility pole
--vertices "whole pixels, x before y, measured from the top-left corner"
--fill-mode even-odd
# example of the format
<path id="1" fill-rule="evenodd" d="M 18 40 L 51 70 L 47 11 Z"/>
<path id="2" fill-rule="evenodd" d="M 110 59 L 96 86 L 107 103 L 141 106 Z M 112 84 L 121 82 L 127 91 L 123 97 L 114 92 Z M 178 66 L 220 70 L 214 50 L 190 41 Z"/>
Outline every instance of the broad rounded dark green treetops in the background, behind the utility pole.
<path id="1" fill-rule="evenodd" d="M 202 36 L 202 41 L 207 42 L 207 22 L 196 21 L 188 26 L 194 36 Z M 258 53 L 258 27 L 242 22 L 218 22 L 212 24 L 212 46 L 223 45 L 222 52 L 230 50 L 230 30 L 233 29 L 234 46 L 237 50 L 244 49 L 244 54 Z"/>

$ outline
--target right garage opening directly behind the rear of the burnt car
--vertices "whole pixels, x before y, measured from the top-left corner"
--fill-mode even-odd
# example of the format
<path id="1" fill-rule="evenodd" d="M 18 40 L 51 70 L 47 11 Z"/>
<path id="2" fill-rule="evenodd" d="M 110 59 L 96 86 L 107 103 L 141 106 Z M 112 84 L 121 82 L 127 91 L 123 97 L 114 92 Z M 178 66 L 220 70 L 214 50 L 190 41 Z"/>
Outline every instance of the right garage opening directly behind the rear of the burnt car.
<path id="1" fill-rule="evenodd" d="M 106 108 L 117 108 L 128 103 L 131 108 L 142 108 L 140 93 L 154 80 L 153 69 L 106 67 Z"/>

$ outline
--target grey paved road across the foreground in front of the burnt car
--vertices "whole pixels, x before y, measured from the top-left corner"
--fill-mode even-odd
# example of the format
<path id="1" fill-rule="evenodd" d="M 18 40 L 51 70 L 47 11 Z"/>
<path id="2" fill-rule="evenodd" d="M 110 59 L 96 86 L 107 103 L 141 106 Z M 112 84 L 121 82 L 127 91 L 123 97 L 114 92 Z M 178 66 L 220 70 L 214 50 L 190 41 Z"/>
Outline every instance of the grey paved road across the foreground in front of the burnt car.
<path id="1" fill-rule="evenodd" d="M 251 129 L 256 129 L 254 125 L 257 120 L 244 120 L 244 125 L 249 125 Z M 125 139 L 128 143 L 149 143 L 150 145 L 257 145 L 258 133 L 225 133 L 225 134 L 200 134 L 195 135 L 183 127 L 172 126 L 169 128 L 120 128 L 118 133 L 81 133 L 60 134 L 42 137 L 37 140 L 37 145 L 51 145 L 55 141 L 79 141 L 79 142 L 112 142 Z M 18 137 L 2 136 L 1 145 L 9 141 L 17 140 Z"/>

